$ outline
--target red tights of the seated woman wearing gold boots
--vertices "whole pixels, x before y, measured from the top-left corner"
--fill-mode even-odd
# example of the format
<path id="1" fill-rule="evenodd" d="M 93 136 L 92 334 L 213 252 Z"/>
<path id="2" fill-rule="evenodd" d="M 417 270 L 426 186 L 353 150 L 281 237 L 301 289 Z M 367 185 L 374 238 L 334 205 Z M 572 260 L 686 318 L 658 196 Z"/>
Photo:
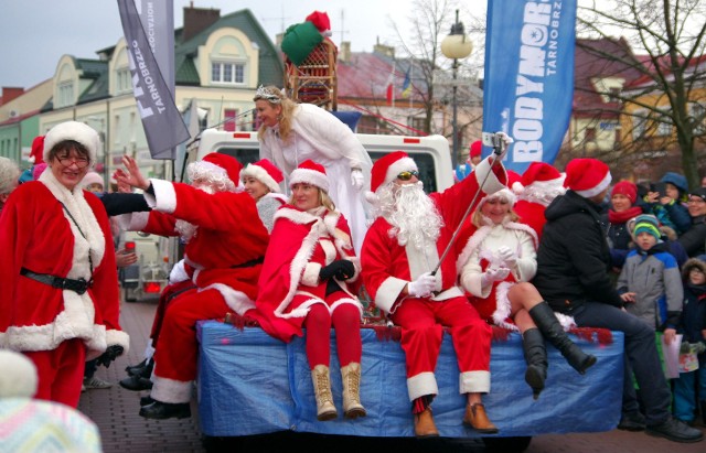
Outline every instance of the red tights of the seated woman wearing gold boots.
<path id="1" fill-rule="evenodd" d="M 311 305 L 304 326 L 307 327 L 307 358 L 309 367 L 329 366 L 331 360 L 331 325 L 335 330 L 336 352 L 342 367 L 351 362 L 360 363 L 363 346 L 361 342 L 361 312 L 350 303 L 338 305 L 332 314 L 322 303 Z"/>

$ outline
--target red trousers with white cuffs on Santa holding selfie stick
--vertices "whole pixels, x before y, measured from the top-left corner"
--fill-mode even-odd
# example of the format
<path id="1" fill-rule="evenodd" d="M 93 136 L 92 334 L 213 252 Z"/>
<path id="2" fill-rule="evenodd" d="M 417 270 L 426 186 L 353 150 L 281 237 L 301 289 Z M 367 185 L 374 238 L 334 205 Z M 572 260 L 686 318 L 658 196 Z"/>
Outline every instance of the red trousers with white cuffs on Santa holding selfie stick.
<path id="1" fill-rule="evenodd" d="M 490 370 L 490 325 L 466 298 L 442 302 L 407 299 L 392 315 L 402 327 L 402 348 L 407 362 L 407 377 L 434 373 L 441 348 L 443 326 L 451 327 L 453 348 L 461 373 Z"/>

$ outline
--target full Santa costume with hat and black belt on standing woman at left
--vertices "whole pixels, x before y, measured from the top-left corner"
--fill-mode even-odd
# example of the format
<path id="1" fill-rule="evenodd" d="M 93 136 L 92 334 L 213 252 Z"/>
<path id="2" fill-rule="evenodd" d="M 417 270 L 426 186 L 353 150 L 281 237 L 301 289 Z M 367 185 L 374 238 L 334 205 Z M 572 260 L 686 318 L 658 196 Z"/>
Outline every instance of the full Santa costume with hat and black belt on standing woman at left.
<path id="1" fill-rule="evenodd" d="M 66 140 L 84 145 L 95 164 L 98 133 L 76 121 L 46 133 L 43 159 Z M 84 362 L 108 346 L 129 348 L 106 211 L 79 184 L 68 190 L 46 171 L 13 192 L 0 225 L 0 348 L 35 363 L 36 398 L 76 407 Z"/>

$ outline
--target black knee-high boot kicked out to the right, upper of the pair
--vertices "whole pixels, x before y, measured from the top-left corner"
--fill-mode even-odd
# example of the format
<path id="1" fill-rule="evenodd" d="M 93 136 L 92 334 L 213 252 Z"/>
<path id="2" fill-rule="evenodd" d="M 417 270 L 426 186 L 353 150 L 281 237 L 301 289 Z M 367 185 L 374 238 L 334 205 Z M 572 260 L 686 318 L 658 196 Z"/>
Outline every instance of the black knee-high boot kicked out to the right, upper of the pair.
<path id="1" fill-rule="evenodd" d="M 542 331 L 542 335 L 559 349 L 566 362 L 578 373 L 585 374 L 596 363 L 596 356 L 584 353 L 571 342 L 548 303 L 543 301 L 533 306 L 530 310 L 530 316 Z"/>

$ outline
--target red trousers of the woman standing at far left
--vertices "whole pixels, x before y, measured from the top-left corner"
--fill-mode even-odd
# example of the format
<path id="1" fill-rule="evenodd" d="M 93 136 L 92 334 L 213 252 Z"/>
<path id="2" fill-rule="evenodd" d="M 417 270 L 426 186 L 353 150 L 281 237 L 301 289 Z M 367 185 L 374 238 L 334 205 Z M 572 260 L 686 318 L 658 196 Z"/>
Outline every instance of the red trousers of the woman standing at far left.
<path id="1" fill-rule="evenodd" d="M 24 352 L 36 366 L 36 399 L 78 407 L 84 379 L 86 346 L 78 338 L 62 342 L 56 349 Z"/>

